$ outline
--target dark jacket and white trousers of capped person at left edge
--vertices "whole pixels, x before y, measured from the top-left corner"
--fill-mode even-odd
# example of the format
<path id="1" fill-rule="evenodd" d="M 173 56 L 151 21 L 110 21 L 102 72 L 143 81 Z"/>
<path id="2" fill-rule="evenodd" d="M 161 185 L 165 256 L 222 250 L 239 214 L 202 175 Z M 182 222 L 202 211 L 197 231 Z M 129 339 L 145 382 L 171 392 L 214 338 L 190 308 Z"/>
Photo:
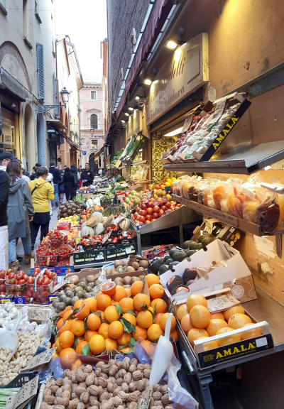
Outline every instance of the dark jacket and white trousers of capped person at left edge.
<path id="1" fill-rule="evenodd" d="M 8 197 L 9 175 L 5 170 L 0 170 L 0 270 L 7 270 L 9 268 Z"/>

